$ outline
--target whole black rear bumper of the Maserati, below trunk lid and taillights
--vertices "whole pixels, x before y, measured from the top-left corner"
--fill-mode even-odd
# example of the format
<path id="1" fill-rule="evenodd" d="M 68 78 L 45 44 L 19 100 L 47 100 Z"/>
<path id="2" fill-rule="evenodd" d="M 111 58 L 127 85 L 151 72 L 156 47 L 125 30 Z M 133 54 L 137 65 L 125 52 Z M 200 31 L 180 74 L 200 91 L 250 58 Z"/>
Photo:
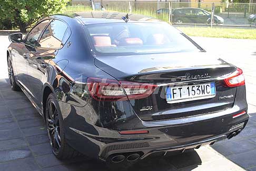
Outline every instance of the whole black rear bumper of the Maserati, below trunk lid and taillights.
<path id="1" fill-rule="evenodd" d="M 67 143 L 78 152 L 103 160 L 116 154 L 126 156 L 131 153 L 145 158 L 152 153 L 173 150 L 182 152 L 184 149 L 212 144 L 243 129 L 249 119 L 247 113 L 233 117 L 243 111 L 247 112 L 243 86 L 238 87 L 231 108 L 166 120 L 142 120 L 127 101 L 104 102 L 104 106 L 101 106 L 101 102 L 94 102 L 84 107 L 63 102 L 59 104 Z M 115 110 L 110 110 L 111 106 L 115 106 Z M 148 130 L 149 133 L 119 134 L 121 130 L 131 129 Z"/>

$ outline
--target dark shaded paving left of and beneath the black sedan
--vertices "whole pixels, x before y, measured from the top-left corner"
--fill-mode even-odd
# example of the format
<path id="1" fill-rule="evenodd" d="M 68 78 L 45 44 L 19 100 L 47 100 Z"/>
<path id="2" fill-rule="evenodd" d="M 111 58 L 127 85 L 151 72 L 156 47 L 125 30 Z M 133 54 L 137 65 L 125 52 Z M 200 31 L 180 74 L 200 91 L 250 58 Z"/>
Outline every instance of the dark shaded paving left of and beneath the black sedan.
<path id="1" fill-rule="evenodd" d="M 9 123 L 6 123 L 9 119 Z M 190 170 L 202 164 L 199 154 L 193 150 L 184 153 L 151 155 L 139 162 L 129 165 L 121 163 L 116 166 L 80 156 L 72 160 L 58 160 L 51 151 L 45 123 L 33 105 L 22 92 L 11 90 L 8 79 L 0 79 L 0 133 L 15 129 L 15 135 L 0 134 L 0 167 L 4 170 Z M 11 128 L 10 125 L 13 125 Z M 16 138 L 16 139 L 15 139 Z M 24 143 L 24 140 L 26 143 Z M 22 141 L 23 143 L 19 143 Z M 13 144 L 13 142 L 15 142 Z M 2 150 L 2 151 L 1 151 Z M 4 153 L 4 155 L 1 155 Z M 27 155 L 22 155 L 22 153 Z M 6 157 L 8 156 L 8 157 Z M 5 162 L 5 163 L 2 163 Z M 189 169 L 186 169 L 186 168 Z M 28 169 L 29 168 L 29 169 Z M 1 169 L 0 169 L 1 170 Z"/>

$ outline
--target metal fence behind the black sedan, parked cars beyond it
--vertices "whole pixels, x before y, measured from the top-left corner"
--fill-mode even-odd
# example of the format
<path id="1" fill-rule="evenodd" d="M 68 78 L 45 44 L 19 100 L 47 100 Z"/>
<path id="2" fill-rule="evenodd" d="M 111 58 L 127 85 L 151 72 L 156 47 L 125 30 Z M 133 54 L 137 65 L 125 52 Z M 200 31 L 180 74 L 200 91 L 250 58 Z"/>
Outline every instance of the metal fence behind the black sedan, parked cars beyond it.
<path id="1" fill-rule="evenodd" d="M 256 4 L 73 1 L 66 12 L 113 11 L 152 16 L 177 25 L 256 26 Z"/>

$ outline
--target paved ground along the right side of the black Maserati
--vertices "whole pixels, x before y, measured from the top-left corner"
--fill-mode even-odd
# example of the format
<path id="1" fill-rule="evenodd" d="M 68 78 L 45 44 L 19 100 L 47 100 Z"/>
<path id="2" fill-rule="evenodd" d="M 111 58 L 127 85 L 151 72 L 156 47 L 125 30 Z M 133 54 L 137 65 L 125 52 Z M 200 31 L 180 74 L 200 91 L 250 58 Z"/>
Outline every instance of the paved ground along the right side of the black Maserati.
<path id="1" fill-rule="evenodd" d="M 256 41 L 206 37 L 194 37 L 194 40 L 206 51 L 244 71 L 248 113 L 251 116 L 249 123 L 240 135 L 212 147 L 243 168 L 256 170 Z"/>

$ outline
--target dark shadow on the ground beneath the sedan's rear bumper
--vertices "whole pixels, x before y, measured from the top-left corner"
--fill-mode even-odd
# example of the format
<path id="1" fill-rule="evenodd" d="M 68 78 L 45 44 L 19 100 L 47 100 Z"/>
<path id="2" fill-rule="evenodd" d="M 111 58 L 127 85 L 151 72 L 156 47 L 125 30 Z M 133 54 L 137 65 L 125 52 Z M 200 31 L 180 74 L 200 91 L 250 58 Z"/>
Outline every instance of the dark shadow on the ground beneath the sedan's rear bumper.
<path id="1" fill-rule="evenodd" d="M 58 166 L 61 170 L 191 170 L 202 164 L 201 158 L 195 150 L 184 153 L 167 154 L 166 156 L 153 155 L 135 164 L 109 164 L 96 159 L 77 158 L 64 161 Z M 61 167 L 61 168 L 60 168 Z M 186 169 L 188 167 L 188 169 Z"/>

